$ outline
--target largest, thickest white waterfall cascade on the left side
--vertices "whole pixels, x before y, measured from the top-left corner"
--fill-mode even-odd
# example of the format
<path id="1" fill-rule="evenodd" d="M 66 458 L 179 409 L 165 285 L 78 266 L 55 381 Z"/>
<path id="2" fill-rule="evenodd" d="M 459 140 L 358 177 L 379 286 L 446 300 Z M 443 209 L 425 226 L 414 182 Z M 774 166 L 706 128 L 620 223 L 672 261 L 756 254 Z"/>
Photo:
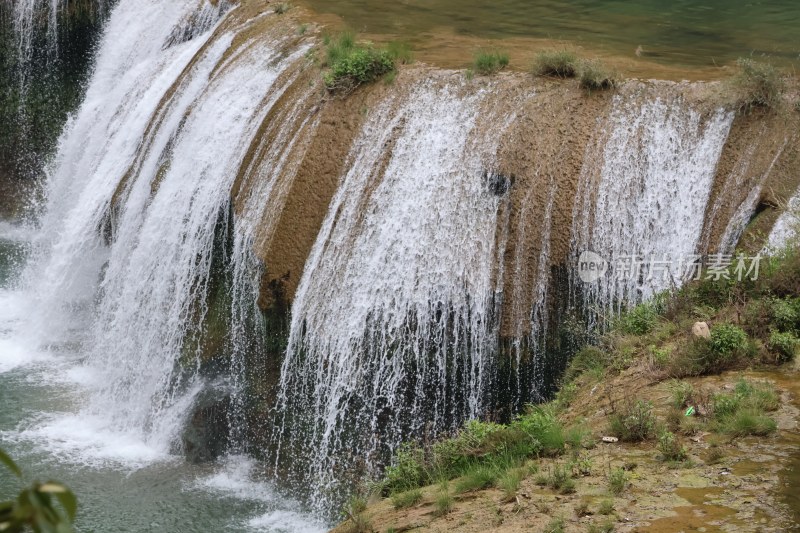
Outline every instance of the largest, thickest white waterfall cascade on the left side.
<path id="1" fill-rule="evenodd" d="M 230 255 L 218 241 L 236 225 L 234 181 L 306 50 L 287 35 L 234 44 L 257 21 L 220 26 L 221 5 L 118 4 L 61 140 L 29 275 L 36 336 L 83 346 L 92 390 L 81 416 L 159 453 L 202 385 L 188 339 L 205 333 L 214 256 Z M 187 21 L 205 31 L 187 33 Z"/>

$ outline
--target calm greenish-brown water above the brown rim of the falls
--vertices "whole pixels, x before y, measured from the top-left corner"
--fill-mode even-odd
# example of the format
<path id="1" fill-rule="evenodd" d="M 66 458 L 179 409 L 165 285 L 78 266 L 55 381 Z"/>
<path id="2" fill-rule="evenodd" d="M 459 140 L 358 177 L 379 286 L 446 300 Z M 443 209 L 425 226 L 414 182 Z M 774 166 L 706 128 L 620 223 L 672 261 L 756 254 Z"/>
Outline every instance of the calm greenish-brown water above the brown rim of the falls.
<path id="1" fill-rule="evenodd" d="M 361 32 L 452 32 L 541 38 L 670 65 L 723 65 L 742 56 L 800 59 L 798 0 L 305 0 Z"/>

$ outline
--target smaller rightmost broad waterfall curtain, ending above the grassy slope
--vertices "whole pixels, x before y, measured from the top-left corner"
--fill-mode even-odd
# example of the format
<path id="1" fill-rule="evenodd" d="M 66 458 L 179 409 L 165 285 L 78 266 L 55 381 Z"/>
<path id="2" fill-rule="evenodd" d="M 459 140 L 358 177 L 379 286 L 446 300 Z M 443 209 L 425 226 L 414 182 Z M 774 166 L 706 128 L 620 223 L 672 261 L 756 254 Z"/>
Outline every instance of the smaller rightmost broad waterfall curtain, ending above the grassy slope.
<path id="1" fill-rule="evenodd" d="M 591 250 L 614 269 L 583 287 L 594 312 L 616 313 L 683 281 L 681 267 L 698 259 L 733 116 L 722 109 L 703 116 L 680 95 L 614 97 L 574 211 L 575 264 Z"/>

